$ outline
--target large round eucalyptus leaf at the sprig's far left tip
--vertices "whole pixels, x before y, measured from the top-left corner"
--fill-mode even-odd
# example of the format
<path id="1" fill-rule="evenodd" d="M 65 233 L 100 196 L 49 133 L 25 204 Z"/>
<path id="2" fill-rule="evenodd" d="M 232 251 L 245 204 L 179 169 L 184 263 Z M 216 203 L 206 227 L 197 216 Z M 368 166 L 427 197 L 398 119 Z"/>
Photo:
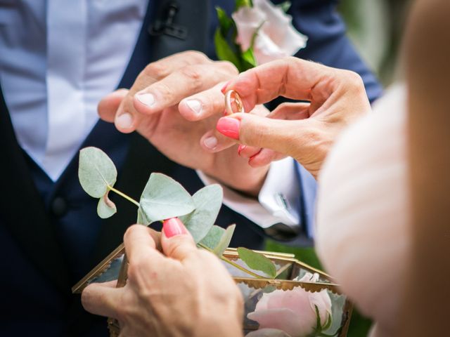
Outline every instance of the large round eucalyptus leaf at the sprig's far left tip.
<path id="1" fill-rule="evenodd" d="M 85 147 L 79 152 L 79 183 L 91 197 L 101 198 L 117 179 L 113 161 L 97 147 Z"/>

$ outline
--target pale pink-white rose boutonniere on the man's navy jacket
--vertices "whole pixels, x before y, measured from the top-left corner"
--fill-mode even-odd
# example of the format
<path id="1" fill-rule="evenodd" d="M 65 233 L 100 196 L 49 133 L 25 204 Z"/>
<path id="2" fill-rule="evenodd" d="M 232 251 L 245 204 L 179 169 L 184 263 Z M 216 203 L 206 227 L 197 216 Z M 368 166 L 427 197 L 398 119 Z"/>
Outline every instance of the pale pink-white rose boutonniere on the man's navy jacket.
<path id="1" fill-rule="evenodd" d="M 307 44 L 308 38 L 293 27 L 292 17 L 269 0 L 253 0 L 253 7 L 243 6 L 232 17 L 242 51 L 250 48 L 253 34 L 261 26 L 253 46 L 259 65 L 292 56 Z"/>

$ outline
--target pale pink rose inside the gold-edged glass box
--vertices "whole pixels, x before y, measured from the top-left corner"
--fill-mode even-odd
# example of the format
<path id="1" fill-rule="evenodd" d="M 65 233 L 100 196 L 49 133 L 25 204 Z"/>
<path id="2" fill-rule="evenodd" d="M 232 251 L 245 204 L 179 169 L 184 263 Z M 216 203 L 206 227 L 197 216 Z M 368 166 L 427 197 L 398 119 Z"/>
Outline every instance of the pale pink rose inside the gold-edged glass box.
<path id="1" fill-rule="evenodd" d="M 300 282 L 317 282 L 318 274 L 307 273 Z M 304 337 L 314 331 L 317 322 L 316 307 L 322 326 L 331 315 L 331 300 L 324 289 L 310 293 L 297 286 L 293 290 L 264 293 L 247 317 L 259 323 L 260 329 L 279 329 L 292 337 Z"/>

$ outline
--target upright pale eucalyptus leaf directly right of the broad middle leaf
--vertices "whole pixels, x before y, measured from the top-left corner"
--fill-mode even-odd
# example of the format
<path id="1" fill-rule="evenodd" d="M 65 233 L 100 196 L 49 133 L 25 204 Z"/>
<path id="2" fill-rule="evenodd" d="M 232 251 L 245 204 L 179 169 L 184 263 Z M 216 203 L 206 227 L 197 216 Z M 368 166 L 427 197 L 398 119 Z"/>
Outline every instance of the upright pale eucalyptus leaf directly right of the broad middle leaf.
<path id="1" fill-rule="evenodd" d="M 195 210 L 186 216 L 181 216 L 180 220 L 191 232 L 195 243 L 200 242 L 214 225 L 223 197 L 224 192 L 218 184 L 205 186 L 192 196 Z"/>

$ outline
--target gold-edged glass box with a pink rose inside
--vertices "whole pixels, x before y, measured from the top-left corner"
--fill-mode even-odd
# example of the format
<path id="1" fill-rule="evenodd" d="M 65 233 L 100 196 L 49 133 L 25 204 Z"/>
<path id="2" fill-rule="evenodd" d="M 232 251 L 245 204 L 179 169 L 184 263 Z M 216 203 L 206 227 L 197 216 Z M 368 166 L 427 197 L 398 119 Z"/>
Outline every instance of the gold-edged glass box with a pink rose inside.
<path id="1" fill-rule="evenodd" d="M 340 293 L 332 277 L 300 262 L 293 254 L 259 253 L 275 264 L 274 279 L 249 277 L 237 267 L 225 264 L 243 294 L 245 336 L 347 336 L 353 305 Z M 224 257 L 243 264 L 236 249 L 226 249 Z M 117 286 L 127 282 L 123 244 L 73 286 L 72 292 L 81 293 L 91 282 L 114 279 Z M 120 325 L 116 319 L 108 319 L 108 328 L 110 336 L 119 336 Z"/>

